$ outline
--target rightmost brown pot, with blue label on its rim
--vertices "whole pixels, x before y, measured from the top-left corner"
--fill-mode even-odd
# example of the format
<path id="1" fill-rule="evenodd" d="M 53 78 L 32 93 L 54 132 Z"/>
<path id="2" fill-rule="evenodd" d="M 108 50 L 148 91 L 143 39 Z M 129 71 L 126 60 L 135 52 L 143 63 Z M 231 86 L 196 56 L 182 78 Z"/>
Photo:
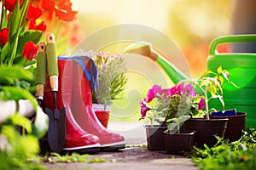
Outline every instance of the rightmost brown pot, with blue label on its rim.
<path id="1" fill-rule="evenodd" d="M 237 112 L 236 116 L 218 116 L 214 118 L 229 118 L 224 138 L 230 139 L 230 142 L 234 142 L 241 138 L 246 123 L 246 116 L 247 114 L 244 112 Z"/>

